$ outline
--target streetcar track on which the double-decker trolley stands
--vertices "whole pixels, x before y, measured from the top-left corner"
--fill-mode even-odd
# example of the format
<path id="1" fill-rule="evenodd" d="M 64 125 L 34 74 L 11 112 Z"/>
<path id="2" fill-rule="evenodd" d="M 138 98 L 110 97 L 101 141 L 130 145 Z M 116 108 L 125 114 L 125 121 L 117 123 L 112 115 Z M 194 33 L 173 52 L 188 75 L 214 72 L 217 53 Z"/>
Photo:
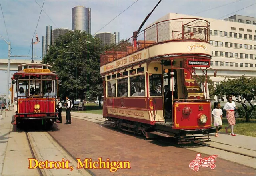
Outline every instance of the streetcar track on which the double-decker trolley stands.
<path id="1" fill-rule="evenodd" d="M 75 115 L 72 115 L 72 116 L 74 116 L 74 117 L 81 117 L 81 116 L 75 116 Z M 90 117 L 81 117 L 81 118 L 98 120 L 98 119 L 94 119 L 94 118 L 90 118 Z M 98 121 L 103 121 L 103 120 L 98 120 Z M 91 122 L 92 122 L 92 121 L 91 121 Z M 105 122 L 105 121 L 103 121 L 103 122 Z M 94 123 L 97 123 L 97 122 L 94 122 Z M 97 124 L 101 125 L 100 123 L 97 123 Z M 102 125 L 101 125 L 101 126 L 102 126 Z M 116 129 L 113 129 L 113 128 L 110 128 L 110 127 L 107 127 L 107 126 L 102 126 L 102 127 L 105 127 L 105 128 L 107 128 L 107 129 L 112 129 L 112 130 L 114 130 L 114 131 L 118 131 L 118 130 L 116 130 Z M 131 134 L 133 134 L 133 133 L 131 133 Z M 170 141 L 164 141 L 164 140 L 162 140 L 162 142 L 170 143 Z M 211 141 L 211 142 L 213 142 L 213 141 Z M 176 147 L 179 147 L 179 148 L 186 148 L 186 147 L 184 147 L 184 146 L 180 146 L 180 145 L 178 145 L 178 144 L 174 144 L 174 142 L 172 142 L 172 143 L 173 143 L 173 146 L 176 146 Z M 218 143 L 218 142 L 216 142 L 216 143 Z M 210 146 L 210 145 L 207 145 L 207 144 L 201 144 L 201 143 L 198 143 L 198 142 L 193 142 L 192 144 L 197 144 L 197 145 L 201 145 L 201 146 L 206 146 L 206 147 L 210 147 L 210 148 L 215 148 L 215 149 L 218 149 L 218 150 L 222 150 L 222 151 L 226 151 L 226 152 L 230 152 L 230 153 L 234 153 L 234 154 L 239 154 L 239 155 L 247 156 L 247 157 L 249 157 L 249 158 L 256 158 L 256 156 L 252 156 L 252 155 L 249 155 L 249 154 L 244 154 L 244 153 L 241 153 L 241 152 L 235 152 L 235 151 L 232 151 L 232 150 L 228 150 L 228 149 L 224 149 L 224 148 L 219 148 L 219 147 L 216 147 L 216 146 Z M 225 144 L 225 145 L 226 145 L 226 144 Z M 238 148 L 241 148 L 241 147 L 238 147 Z M 243 149 L 245 149 L 245 148 L 243 148 Z M 246 149 L 246 150 L 248 150 L 248 149 Z"/>

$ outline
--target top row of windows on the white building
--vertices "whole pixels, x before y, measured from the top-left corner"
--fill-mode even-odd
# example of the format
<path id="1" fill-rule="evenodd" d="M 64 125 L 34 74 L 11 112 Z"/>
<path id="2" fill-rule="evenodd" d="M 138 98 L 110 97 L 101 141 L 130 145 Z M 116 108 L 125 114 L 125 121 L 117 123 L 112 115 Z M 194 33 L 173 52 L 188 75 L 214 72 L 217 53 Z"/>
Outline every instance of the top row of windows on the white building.
<path id="1" fill-rule="evenodd" d="M 233 27 L 231 27 L 231 30 L 234 30 Z M 243 28 L 239 28 L 240 31 L 244 31 Z M 213 30 L 210 30 L 210 35 L 213 35 Z M 251 29 L 248 29 L 247 32 L 252 32 Z M 218 36 L 218 30 L 214 30 L 214 36 Z M 219 31 L 219 36 L 225 36 L 225 37 L 232 37 L 232 38 L 241 38 L 241 39 L 248 39 L 248 40 L 256 40 L 256 35 L 252 35 L 252 34 L 241 34 L 241 33 L 236 33 L 236 32 L 228 32 L 224 31 Z M 243 38 L 244 36 L 244 38 Z M 252 39 L 253 37 L 253 39 Z"/>

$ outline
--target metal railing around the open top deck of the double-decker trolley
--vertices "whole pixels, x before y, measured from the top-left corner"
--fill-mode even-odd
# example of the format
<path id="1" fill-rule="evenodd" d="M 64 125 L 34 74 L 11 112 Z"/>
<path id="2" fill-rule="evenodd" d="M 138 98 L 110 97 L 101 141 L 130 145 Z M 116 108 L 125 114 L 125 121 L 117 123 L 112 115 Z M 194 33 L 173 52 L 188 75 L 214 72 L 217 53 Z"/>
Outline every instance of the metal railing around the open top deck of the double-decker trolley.
<path id="1" fill-rule="evenodd" d="M 136 46 L 134 37 L 118 44 L 100 55 L 100 66 L 121 59 L 152 45 L 196 40 L 210 42 L 210 22 L 200 18 L 177 18 L 156 22 L 138 33 Z"/>

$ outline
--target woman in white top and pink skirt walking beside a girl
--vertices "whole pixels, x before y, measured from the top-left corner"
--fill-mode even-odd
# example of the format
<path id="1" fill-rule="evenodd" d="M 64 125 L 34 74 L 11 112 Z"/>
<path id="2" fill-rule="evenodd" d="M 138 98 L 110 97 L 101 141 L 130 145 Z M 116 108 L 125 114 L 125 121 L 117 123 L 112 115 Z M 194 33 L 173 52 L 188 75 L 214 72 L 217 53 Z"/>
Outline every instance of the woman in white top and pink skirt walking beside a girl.
<path id="1" fill-rule="evenodd" d="M 236 136 L 236 134 L 234 134 L 234 125 L 236 124 L 236 120 L 235 120 L 235 109 L 236 108 L 236 104 L 234 101 L 232 101 L 232 95 L 228 95 L 227 96 L 227 100 L 228 102 L 225 104 L 225 106 L 223 107 L 223 110 L 226 111 L 226 116 L 228 119 L 228 127 L 225 127 L 226 129 L 226 133 L 228 133 L 228 129 L 231 129 L 231 135 L 232 136 Z"/>

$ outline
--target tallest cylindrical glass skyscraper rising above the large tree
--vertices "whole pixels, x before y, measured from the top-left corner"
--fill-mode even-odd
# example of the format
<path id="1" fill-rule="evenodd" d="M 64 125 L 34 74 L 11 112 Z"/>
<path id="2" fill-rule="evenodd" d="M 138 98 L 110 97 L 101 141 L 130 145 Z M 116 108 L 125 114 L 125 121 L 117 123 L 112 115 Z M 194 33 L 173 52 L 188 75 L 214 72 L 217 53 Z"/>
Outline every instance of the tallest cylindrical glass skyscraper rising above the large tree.
<path id="1" fill-rule="evenodd" d="M 91 8 L 76 6 L 72 8 L 72 30 L 91 32 Z"/>

